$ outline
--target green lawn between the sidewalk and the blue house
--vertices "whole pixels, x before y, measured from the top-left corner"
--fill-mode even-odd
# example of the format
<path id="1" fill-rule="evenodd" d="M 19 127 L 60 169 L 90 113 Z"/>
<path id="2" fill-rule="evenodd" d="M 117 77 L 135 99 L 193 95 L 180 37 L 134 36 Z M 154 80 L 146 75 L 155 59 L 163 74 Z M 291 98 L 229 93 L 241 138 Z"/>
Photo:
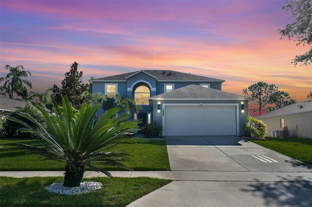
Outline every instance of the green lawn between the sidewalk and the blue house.
<path id="1" fill-rule="evenodd" d="M 0 170 L 1 171 L 63 171 L 65 163 L 47 160 L 41 155 L 28 155 L 14 147 L 22 142 L 35 144 L 38 140 L 15 138 L 1 138 Z M 170 170 L 166 142 L 164 140 L 150 140 L 144 143 L 123 143 L 111 148 L 110 151 L 123 151 L 133 157 L 123 163 L 134 171 L 167 171 Z M 125 171 L 122 168 L 105 166 L 108 171 Z M 86 170 L 89 170 L 88 168 Z"/>

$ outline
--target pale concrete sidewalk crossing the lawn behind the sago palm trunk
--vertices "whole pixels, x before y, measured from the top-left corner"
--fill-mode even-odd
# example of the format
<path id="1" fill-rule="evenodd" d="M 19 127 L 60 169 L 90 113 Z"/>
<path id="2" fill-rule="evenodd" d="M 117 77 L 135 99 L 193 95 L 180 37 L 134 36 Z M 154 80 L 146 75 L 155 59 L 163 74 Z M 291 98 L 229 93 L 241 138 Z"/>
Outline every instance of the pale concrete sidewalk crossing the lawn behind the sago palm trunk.
<path id="1" fill-rule="evenodd" d="M 0 176 L 10 177 L 47 177 L 47 176 L 64 176 L 64 171 L 0 171 Z M 114 177 L 156 177 L 173 180 L 171 171 L 109 171 Z M 107 177 L 104 173 L 86 171 L 83 177 Z"/>

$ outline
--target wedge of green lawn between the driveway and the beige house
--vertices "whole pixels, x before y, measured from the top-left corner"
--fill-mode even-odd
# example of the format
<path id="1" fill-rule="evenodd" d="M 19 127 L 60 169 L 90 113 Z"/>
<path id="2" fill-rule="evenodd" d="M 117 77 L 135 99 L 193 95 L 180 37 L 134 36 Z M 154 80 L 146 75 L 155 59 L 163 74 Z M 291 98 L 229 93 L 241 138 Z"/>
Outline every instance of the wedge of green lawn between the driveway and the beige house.
<path id="1" fill-rule="evenodd" d="M 251 140 L 263 147 L 312 165 L 312 138 L 266 138 Z"/>

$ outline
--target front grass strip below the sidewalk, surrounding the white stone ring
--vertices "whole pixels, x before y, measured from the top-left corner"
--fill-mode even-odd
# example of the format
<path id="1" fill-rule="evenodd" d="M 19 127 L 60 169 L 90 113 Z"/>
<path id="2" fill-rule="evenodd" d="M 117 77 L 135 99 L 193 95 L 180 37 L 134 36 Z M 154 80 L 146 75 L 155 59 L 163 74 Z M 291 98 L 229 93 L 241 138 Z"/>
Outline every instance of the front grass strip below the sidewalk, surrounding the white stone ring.
<path id="1" fill-rule="evenodd" d="M 64 177 L 0 177 L 1 206 L 19 207 L 124 207 L 138 198 L 172 182 L 148 177 L 93 177 L 82 181 L 96 181 L 103 188 L 76 195 L 59 195 L 44 189 L 53 183 L 62 182 Z"/>

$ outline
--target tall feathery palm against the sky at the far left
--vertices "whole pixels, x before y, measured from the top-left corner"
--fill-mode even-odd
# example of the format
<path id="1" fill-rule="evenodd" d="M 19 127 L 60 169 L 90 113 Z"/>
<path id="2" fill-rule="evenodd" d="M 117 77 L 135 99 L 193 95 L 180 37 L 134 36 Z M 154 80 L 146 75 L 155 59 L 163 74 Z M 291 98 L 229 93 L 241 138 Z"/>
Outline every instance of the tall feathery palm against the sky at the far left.
<path id="1" fill-rule="evenodd" d="M 0 82 L 5 81 L 4 85 L 0 87 L 1 95 L 9 95 L 10 99 L 13 99 L 14 93 L 23 99 L 28 97 L 27 87 L 32 88 L 33 86 L 30 81 L 23 78 L 27 78 L 28 75 L 31 76 L 31 72 L 24 70 L 24 67 L 21 65 L 16 67 L 6 65 L 4 68 L 10 72 L 6 77 L 0 78 Z"/>

